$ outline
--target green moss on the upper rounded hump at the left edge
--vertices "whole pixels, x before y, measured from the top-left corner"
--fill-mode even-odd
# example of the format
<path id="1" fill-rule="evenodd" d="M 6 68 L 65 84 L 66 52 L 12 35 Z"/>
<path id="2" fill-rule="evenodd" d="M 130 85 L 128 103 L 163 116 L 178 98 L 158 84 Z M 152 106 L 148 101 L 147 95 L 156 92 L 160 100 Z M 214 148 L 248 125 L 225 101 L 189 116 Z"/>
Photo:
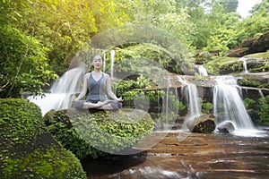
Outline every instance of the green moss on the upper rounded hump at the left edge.
<path id="1" fill-rule="evenodd" d="M 33 145 L 33 136 L 41 134 L 44 125 L 39 107 L 26 99 L 0 99 L 0 128 L 4 145 L 0 149 L 13 149 L 20 144 L 21 148 Z M 27 126 L 27 127 L 26 127 Z"/>

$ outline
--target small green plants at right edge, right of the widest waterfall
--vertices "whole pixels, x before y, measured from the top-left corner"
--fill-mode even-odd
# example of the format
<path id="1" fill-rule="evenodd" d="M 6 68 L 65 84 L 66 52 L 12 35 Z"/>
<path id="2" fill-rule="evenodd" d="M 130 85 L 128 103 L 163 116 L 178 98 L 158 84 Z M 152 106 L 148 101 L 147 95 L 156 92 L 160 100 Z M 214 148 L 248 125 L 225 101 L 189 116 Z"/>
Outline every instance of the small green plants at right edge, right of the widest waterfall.
<path id="1" fill-rule="evenodd" d="M 259 124 L 269 124 L 269 95 L 267 95 L 265 98 L 259 98 Z"/>

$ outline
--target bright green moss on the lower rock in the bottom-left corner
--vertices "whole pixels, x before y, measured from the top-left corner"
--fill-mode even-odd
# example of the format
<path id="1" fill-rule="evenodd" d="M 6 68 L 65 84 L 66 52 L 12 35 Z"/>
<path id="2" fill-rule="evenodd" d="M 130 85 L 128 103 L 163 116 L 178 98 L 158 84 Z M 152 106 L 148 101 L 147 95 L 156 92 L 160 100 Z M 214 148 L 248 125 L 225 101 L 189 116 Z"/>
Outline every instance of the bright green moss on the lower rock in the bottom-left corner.
<path id="1" fill-rule="evenodd" d="M 85 178 L 79 165 L 66 149 L 36 149 L 26 157 L 4 159 L 2 178 Z"/>

